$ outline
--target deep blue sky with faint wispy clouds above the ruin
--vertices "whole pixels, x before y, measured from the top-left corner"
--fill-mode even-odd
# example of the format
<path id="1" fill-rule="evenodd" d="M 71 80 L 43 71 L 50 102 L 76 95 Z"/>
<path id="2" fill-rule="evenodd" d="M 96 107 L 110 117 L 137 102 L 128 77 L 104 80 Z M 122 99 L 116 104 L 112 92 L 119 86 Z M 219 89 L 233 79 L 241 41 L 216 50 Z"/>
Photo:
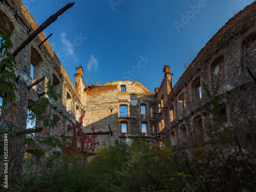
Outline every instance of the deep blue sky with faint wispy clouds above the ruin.
<path id="1" fill-rule="evenodd" d="M 22 0 L 38 25 L 72 1 Z M 87 0 L 44 34 L 73 83 L 76 67 L 101 84 L 140 81 L 154 93 L 170 66 L 175 84 L 200 48 L 252 0 Z M 184 15 L 186 18 L 184 18 Z M 183 19 L 182 19 L 183 18 Z"/>

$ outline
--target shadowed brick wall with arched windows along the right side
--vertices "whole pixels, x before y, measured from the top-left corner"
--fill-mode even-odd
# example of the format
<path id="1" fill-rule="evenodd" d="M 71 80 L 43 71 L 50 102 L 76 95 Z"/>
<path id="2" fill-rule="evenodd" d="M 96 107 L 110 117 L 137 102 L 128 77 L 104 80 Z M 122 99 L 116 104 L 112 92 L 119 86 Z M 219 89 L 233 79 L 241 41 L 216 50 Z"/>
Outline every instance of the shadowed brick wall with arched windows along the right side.
<path id="1" fill-rule="evenodd" d="M 217 79 L 220 79 L 218 94 L 225 99 L 225 91 L 228 91 L 231 100 L 238 97 L 236 110 L 239 111 L 243 105 L 246 117 L 244 125 L 256 123 L 256 85 L 248 72 L 249 69 L 254 76 L 256 74 L 255 10 L 256 2 L 231 18 L 207 42 L 167 95 L 167 76 L 164 76 L 161 87 L 155 90 L 157 102 L 161 100 L 162 95 L 164 100 L 164 108 L 158 115 L 159 122 L 164 119 L 164 129 L 158 134 L 160 140 L 164 138 L 171 140 L 173 144 L 181 144 L 184 141 L 182 135 L 189 136 L 191 131 L 204 127 L 206 121 L 201 114 L 204 111 L 204 104 L 207 104 L 209 99 L 202 88 L 203 81 L 212 91 L 216 87 Z M 201 98 L 197 95 L 199 86 L 202 88 Z M 184 103 L 180 99 L 183 95 Z M 172 106 L 175 114 L 173 121 L 170 120 Z M 224 111 L 228 115 L 226 108 Z"/>

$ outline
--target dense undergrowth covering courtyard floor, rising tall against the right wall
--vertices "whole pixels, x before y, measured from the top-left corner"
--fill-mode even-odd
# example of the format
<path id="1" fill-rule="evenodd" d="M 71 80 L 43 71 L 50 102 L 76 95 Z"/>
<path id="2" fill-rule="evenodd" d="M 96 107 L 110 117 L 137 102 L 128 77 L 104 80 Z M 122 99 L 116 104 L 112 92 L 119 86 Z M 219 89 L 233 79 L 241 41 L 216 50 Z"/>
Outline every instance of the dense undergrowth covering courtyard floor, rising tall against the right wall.
<path id="1" fill-rule="evenodd" d="M 114 146 L 103 144 L 89 163 L 61 155 L 59 161 L 51 162 L 58 165 L 56 169 L 38 179 L 33 190 L 255 191 L 255 140 L 245 142 L 247 131 L 255 138 L 255 126 L 244 127 L 238 100 L 230 99 L 228 93 L 218 95 L 219 80 L 213 91 L 202 84 L 209 100 L 202 115 L 210 142 L 202 138 L 174 148 L 170 142 L 148 143 L 139 135 L 129 151 L 118 141 Z M 45 188 L 42 183 L 47 183 Z"/>

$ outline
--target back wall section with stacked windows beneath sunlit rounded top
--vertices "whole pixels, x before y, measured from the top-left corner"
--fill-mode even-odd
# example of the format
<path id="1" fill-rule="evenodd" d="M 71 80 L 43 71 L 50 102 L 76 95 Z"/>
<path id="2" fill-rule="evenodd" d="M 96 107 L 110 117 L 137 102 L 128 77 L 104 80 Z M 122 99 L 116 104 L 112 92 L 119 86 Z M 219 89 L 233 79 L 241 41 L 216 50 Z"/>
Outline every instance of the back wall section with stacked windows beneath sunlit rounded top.
<path id="1" fill-rule="evenodd" d="M 156 98 L 153 93 L 146 89 L 140 82 L 136 81 L 115 81 L 105 83 L 103 86 L 117 86 L 118 92 L 118 127 L 119 141 L 121 144 L 131 145 L 133 138 L 139 134 L 146 136 L 149 141 L 153 140 L 154 129 L 157 127 Z M 125 87 L 125 91 L 121 90 Z M 120 106 L 126 105 L 128 115 L 120 114 Z M 141 114 L 141 105 L 145 106 L 145 114 Z M 121 123 L 126 123 L 127 131 L 122 133 Z M 146 124 L 146 133 L 142 133 L 142 123 Z"/>

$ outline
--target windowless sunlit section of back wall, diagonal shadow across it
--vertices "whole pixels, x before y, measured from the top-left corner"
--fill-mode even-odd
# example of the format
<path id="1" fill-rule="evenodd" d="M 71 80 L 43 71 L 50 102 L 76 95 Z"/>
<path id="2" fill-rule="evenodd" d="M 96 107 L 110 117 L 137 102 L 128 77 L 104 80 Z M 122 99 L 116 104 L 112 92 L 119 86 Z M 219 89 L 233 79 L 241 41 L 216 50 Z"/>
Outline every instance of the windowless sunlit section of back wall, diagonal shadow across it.
<path id="1" fill-rule="evenodd" d="M 118 95 L 117 86 L 89 87 L 84 90 L 83 126 L 86 132 L 102 131 L 104 135 L 98 135 L 96 142 L 114 144 L 118 140 Z M 111 132 L 113 134 L 111 134 Z"/>

